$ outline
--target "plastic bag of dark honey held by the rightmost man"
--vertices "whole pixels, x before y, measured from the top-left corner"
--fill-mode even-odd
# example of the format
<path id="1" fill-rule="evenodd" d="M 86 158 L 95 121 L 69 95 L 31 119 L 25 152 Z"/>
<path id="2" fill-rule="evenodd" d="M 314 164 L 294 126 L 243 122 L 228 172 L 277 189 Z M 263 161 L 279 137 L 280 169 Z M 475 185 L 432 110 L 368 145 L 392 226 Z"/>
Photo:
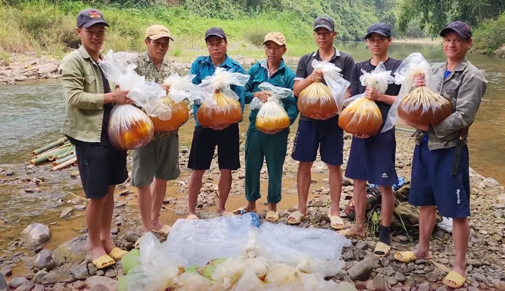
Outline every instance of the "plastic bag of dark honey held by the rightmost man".
<path id="1" fill-rule="evenodd" d="M 434 71 L 420 53 L 412 53 L 403 60 L 394 79 L 396 84 L 401 84 L 401 89 L 382 132 L 391 129 L 398 117 L 423 124 L 437 124 L 447 118 L 452 113 L 452 104 L 437 93 L 444 73 Z M 424 74 L 426 86 L 413 88 L 414 77 L 420 74 Z"/>

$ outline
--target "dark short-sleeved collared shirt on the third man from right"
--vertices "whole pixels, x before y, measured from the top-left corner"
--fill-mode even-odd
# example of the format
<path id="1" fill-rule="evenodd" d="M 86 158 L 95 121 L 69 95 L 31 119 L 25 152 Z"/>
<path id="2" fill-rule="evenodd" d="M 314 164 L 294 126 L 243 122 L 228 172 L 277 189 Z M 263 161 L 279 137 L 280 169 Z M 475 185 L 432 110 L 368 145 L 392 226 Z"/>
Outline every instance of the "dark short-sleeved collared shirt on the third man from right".
<path id="1" fill-rule="evenodd" d="M 333 47 L 333 49 L 335 50 L 335 53 L 333 54 L 333 57 L 331 57 L 331 59 L 328 61 L 328 63 L 333 63 L 335 66 L 342 69 L 342 71 L 340 72 L 342 74 L 342 77 L 350 82 L 352 67 L 354 66 L 354 60 L 352 59 L 351 56 L 339 52 L 336 49 L 336 47 Z M 314 68 L 312 67 L 313 60 L 322 61 L 321 57 L 319 56 L 319 50 L 310 54 L 303 55 L 300 58 L 300 61 L 298 62 L 298 67 L 296 68 L 295 81 L 303 80 L 308 76 L 310 76 L 312 72 L 314 72 Z M 321 82 L 326 85 L 324 78 L 321 80 Z M 296 98 L 298 98 L 298 96 L 296 96 Z M 338 119 L 338 116 L 335 116 L 330 119 Z M 300 120 L 312 120 L 312 119 L 300 114 Z"/>

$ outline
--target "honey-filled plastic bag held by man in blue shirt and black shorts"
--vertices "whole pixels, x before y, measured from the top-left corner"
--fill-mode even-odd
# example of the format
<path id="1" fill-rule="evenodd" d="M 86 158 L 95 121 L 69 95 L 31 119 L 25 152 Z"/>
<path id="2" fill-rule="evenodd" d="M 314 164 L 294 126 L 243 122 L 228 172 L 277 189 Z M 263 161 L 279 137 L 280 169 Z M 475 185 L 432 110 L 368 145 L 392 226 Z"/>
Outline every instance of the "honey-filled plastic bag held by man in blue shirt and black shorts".
<path id="1" fill-rule="evenodd" d="M 216 68 L 212 76 L 201 81 L 200 87 L 213 93 L 210 102 L 202 100 L 202 105 L 196 111 L 196 120 L 203 127 L 223 126 L 242 120 L 242 108 L 238 95 L 230 85 L 245 86 L 249 75 L 233 73 L 224 68 Z"/>

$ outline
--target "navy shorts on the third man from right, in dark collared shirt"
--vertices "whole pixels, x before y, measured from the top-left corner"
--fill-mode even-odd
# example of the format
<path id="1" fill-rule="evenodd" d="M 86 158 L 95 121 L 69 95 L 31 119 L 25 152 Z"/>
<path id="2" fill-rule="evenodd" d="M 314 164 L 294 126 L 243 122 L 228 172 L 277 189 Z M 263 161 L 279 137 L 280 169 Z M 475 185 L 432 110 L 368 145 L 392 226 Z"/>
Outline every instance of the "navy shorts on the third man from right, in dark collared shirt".
<path id="1" fill-rule="evenodd" d="M 298 162 L 314 162 L 319 149 L 321 161 L 340 166 L 343 148 L 344 131 L 338 126 L 338 116 L 327 120 L 300 120 L 291 157 Z"/>

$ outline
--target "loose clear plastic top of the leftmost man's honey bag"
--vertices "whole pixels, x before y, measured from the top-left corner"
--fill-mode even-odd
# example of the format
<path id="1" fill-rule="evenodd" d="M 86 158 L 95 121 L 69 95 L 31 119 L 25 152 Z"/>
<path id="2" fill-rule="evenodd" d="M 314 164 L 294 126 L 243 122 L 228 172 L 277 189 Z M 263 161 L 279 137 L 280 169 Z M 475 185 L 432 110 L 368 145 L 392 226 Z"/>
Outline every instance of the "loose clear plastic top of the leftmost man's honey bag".
<path id="1" fill-rule="evenodd" d="M 137 74 L 136 65 L 130 63 L 132 58 L 124 57 L 125 54 L 120 53 L 116 55 L 110 50 L 100 62 L 100 67 L 107 79 L 119 85 L 122 90 L 129 90 L 128 98 L 133 100 L 136 106 L 141 107 L 147 115 L 163 120 L 170 119 L 170 108 L 160 103 L 160 99 L 166 95 L 165 89 L 160 84 L 146 81 L 145 77 Z"/>

